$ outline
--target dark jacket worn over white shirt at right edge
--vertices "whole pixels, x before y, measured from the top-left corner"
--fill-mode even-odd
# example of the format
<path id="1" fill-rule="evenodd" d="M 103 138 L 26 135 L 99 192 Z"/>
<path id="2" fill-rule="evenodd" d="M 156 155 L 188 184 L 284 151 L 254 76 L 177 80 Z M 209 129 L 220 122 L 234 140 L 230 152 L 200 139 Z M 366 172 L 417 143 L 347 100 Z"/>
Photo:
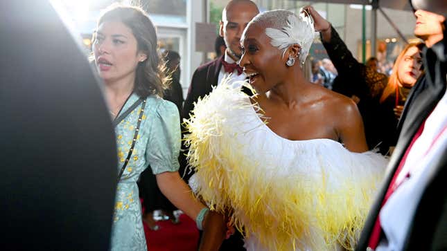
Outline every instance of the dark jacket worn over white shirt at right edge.
<path id="1" fill-rule="evenodd" d="M 442 50 L 444 45 L 440 43 L 431 49 L 423 51 L 426 75 L 423 75 L 414 86 L 407 98 L 407 103 L 398 124 L 401 130 L 396 149 L 389 160 L 385 180 L 378 191 L 376 201 L 371 207 L 367 221 L 360 235 L 356 250 L 367 250 L 369 238 L 374 228 L 374 223 L 380 212 L 385 193 L 391 183 L 396 169 L 410 145 L 414 134 L 423 121 L 426 120 L 435 108 L 441 97 L 446 92 L 446 57 L 439 59 L 435 53 Z M 441 62 L 444 60 L 444 62 Z M 447 111 L 446 111 L 447 112 Z M 445 185 L 447 167 L 446 154 L 429 163 L 427 171 L 432 173 L 430 181 L 426 184 L 420 198 L 417 210 L 414 212 L 412 225 L 408 229 L 404 250 L 446 250 L 447 249 L 447 187 Z"/>

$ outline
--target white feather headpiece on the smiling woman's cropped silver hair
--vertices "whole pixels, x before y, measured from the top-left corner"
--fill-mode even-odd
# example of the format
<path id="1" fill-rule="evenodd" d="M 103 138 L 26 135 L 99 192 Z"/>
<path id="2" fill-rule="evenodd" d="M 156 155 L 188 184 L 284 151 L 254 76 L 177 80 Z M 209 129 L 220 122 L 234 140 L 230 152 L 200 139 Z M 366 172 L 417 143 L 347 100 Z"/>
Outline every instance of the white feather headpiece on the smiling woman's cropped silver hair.
<path id="1" fill-rule="evenodd" d="M 287 17 L 287 25 L 281 30 L 265 28 L 265 34 L 272 39 L 270 41 L 272 46 L 283 50 L 283 56 L 289 46 L 298 44 L 301 47 L 299 62 L 304 64 L 315 37 L 315 28 L 313 27 L 312 18 L 307 13 L 301 12 L 301 10 L 299 13 L 299 17 L 290 14 Z"/>

